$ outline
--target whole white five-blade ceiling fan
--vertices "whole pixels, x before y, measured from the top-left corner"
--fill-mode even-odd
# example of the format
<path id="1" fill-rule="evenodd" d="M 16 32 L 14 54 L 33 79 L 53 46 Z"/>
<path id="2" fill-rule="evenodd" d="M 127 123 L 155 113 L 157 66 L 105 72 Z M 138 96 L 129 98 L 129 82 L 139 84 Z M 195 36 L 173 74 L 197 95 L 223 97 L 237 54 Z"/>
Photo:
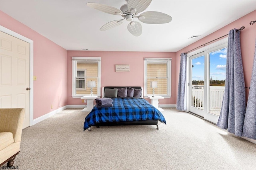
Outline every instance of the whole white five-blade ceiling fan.
<path id="1" fill-rule="evenodd" d="M 120 25 L 123 23 L 123 20 L 126 19 L 127 21 L 131 21 L 127 29 L 128 31 L 138 37 L 142 33 L 142 25 L 140 22 L 134 21 L 134 18 L 138 18 L 143 23 L 150 23 L 150 24 L 159 24 L 159 23 L 168 23 L 172 21 L 172 17 L 164 14 L 162 12 L 156 12 L 156 11 L 148 11 L 143 12 L 148 8 L 152 0 L 125 0 L 127 4 L 124 4 L 121 6 L 120 10 L 117 8 L 114 8 L 112 6 L 108 6 L 105 4 L 98 4 L 98 3 L 87 3 L 87 6 L 94 8 L 96 10 L 100 10 L 102 12 L 106 12 L 108 14 L 113 15 L 120 15 L 123 17 L 122 20 L 114 20 L 106 23 L 100 28 L 100 31 L 106 31 L 110 28 L 113 28 L 117 25 Z M 143 12 L 139 16 L 138 13 Z"/>

